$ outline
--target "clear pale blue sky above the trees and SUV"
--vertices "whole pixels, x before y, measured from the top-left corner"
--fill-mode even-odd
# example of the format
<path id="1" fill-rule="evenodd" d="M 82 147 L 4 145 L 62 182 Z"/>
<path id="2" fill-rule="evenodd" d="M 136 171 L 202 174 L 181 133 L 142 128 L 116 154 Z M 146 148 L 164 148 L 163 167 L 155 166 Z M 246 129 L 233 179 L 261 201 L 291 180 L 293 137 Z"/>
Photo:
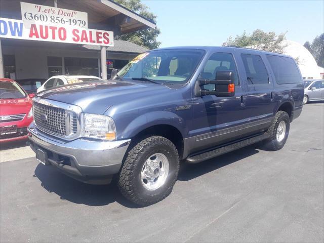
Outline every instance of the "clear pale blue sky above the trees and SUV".
<path id="1" fill-rule="evenodd" d="M 142 0 L 157 15 L 160 47 L 221 46 L 231 35 L 255 29 L 284 33 L 304 44 L 324 32 L 324 0 Z"/>

